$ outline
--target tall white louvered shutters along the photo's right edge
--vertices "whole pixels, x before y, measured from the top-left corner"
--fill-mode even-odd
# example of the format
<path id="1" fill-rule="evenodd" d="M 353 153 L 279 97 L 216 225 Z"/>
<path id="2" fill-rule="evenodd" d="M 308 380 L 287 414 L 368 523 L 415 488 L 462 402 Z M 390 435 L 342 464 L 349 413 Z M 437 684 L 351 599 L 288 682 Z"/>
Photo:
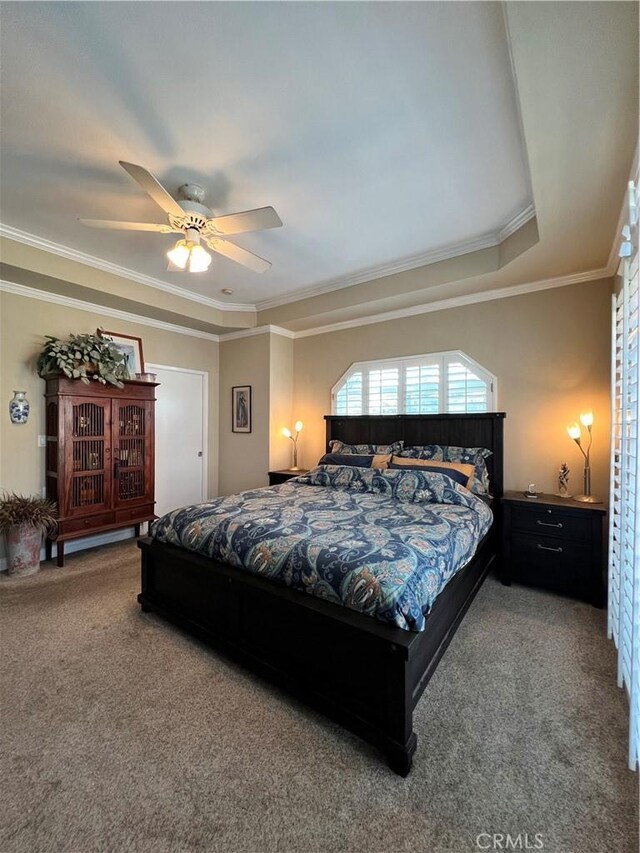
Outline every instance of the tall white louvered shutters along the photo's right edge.
<path id="1" fill-rule="evenodd" d="M 621 248 L 622 288 L 613 298 L 607 628 L 618 649 L 618 685 L 629 695 L 629 767 L 637 769 L 640 762 L 640 277 L 637 204 L 631 203 L 633 200 L 637 200 L 637 193 L 632 184 L 629 224 L 623 231 Z"/>

